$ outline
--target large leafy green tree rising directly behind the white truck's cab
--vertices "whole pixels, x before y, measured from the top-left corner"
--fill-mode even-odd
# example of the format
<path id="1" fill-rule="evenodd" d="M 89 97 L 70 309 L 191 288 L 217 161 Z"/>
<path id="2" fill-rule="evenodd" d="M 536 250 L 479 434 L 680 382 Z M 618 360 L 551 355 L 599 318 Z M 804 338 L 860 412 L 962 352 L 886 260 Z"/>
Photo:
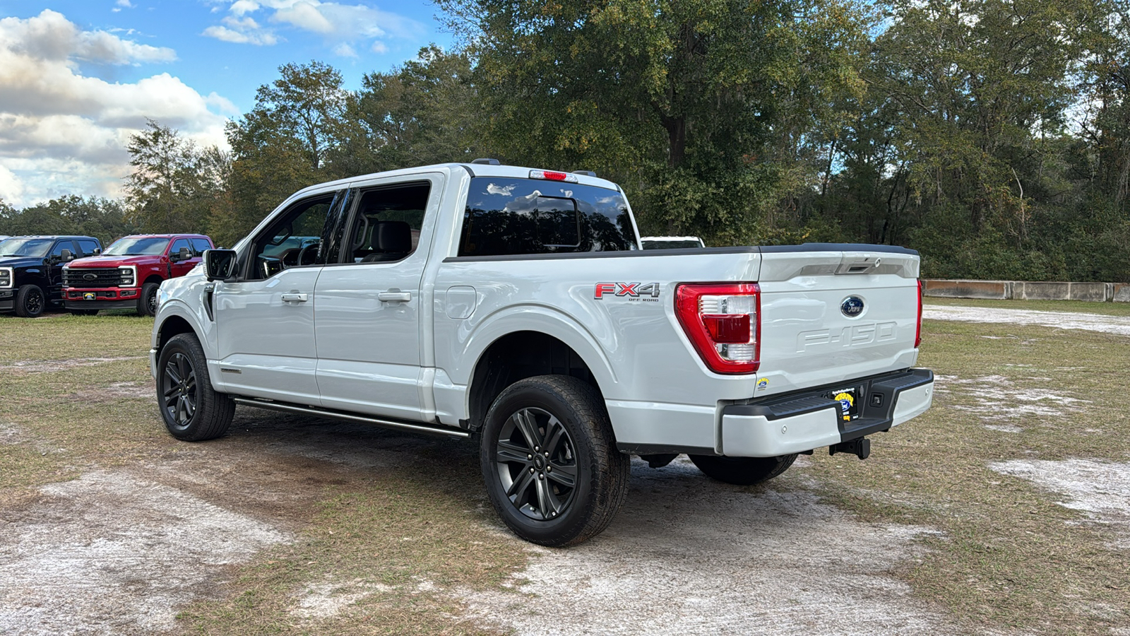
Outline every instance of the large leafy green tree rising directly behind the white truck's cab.
<path id="1" fill-rule="evenodd" d="M 440 5 L 476 57 L 489 144 L 624 183 L 645 231 L 763 234 L 810 186 L 814 121 L 862 89 L 866 16 L 836 0 Z"/>

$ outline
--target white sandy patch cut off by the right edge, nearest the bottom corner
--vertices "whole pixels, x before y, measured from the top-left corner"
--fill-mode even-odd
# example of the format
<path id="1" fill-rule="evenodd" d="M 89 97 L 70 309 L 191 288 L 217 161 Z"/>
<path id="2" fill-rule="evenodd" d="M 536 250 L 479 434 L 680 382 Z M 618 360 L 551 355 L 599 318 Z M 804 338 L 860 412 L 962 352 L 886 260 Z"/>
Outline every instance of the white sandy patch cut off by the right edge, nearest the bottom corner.
<path id="1" fill-rule="evenodd" d="M 1081 510 L 1118 535 L 1119 548 L 1130 548 L 1130 463 L 1093 459 L 1011 459 L 990 464 L 992 470 L 1035 482 L 1066 497 L 1059 504 Z"/>

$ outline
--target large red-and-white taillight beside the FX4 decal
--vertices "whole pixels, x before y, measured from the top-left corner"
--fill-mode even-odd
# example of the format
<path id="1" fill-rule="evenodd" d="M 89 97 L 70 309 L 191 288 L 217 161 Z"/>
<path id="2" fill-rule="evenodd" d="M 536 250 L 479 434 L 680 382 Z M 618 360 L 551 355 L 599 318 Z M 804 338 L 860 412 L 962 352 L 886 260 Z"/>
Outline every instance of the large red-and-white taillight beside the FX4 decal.
<path id="1" fill-rule="evenodd" d="M 715 373 L 755 373 L 762 352 L 757 283 L 694 283 L 675 292 L 675 312 L 703 362 Z"/>

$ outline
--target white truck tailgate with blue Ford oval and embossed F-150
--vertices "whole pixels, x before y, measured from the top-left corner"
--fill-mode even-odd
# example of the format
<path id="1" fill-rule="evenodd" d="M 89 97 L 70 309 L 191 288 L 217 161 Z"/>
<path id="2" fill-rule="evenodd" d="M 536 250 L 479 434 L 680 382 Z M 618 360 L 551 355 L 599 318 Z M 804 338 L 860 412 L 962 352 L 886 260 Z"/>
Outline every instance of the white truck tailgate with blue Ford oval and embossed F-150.
<path id="1" fill-rule="evenodd" d="M 912 367 L 918 275 L 897 247 L 763 248 L 756 397 Z"/>

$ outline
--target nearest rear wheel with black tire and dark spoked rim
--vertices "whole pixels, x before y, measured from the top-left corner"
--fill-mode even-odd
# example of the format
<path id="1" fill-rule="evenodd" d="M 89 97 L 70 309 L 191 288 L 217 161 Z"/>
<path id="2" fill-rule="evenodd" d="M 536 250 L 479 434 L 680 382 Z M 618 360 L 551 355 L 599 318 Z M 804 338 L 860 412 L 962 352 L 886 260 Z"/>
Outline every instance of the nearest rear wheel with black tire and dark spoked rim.
<path id="1" fill-rule="evenodd" d="M 568 376 L 503 390 L 487 411 L 479 463 L 498 516 L 541 545 L 596 536 L 627 498 L 631 457 L 616 449 L 605 403 Z"/>

